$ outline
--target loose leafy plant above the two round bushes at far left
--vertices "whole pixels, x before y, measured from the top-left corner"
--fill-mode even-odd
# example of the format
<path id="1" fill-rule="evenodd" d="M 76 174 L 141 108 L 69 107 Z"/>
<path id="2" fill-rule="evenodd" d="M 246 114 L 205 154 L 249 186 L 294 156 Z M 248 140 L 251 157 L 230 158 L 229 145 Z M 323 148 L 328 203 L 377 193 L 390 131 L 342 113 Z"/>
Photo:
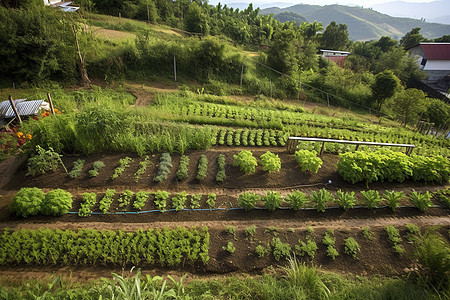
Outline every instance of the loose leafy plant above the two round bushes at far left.
<path id="1" fill-rule="evenodd" d="M 53 172 L 58 169 L 59 164 L 61 164 L 65 172 L 68 173 L 61 157 L 62 155 L 55 152 L 53 148 L 50 147 L 48 150 L 45 150 L 37 145 L 36 153 L 28 159 L 27 176 L 36 176 L 47 172 Z"/>

